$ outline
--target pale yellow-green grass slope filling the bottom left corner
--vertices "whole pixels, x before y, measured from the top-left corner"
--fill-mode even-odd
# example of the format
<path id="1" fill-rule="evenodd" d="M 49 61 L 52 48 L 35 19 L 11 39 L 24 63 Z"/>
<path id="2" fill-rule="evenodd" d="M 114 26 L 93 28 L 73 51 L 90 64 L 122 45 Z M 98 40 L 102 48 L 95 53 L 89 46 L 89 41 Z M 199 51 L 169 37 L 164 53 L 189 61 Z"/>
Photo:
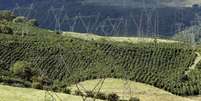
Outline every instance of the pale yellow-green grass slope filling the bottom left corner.
<path id="1" fill-rule="evenodd" d="M 82 101 L 79 96 L 51 94 L 54 99 L 46 91 L 0 85 L 0 101 Z"/>

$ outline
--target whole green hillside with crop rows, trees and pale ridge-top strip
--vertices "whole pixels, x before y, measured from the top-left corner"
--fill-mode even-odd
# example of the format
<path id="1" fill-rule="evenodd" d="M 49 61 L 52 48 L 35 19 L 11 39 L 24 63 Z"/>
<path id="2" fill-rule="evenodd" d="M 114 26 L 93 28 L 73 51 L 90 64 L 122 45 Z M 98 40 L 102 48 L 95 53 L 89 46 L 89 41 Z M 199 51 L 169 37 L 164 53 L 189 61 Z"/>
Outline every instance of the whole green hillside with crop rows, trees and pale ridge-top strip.
<path id="1" fill-rule="evenodd" d="M 64 92 L 81 81 L 117 78 L 176 95 L 201 94 L 199 63 L 194 66 L 199 47 L 160 38 L 62 34 L 37 27 L 33 19 L 4 20 L 0 22 L 3 84 Z M 192 66 L 195 69 L 189 71 Z"/>

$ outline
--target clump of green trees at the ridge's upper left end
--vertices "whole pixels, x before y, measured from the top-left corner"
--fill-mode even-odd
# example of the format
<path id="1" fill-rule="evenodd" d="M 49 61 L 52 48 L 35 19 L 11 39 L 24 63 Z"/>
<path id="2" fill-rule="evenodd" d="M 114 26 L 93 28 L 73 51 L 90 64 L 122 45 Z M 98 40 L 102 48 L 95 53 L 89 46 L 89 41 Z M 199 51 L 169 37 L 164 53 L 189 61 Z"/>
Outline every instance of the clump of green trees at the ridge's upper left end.
<path id="1" fill-rule="evenodd" d="M 19 26 L 21 26 L 21 28 Z M 8 10 L 0 11 L 0 33 L 10 35 L 24 35 L 31 33 L 27 31 L 30 29 L 26 26 L 36 27 L 38 26 L 38 21 L 23 16 L 16 16 L 13 12 Z"/>

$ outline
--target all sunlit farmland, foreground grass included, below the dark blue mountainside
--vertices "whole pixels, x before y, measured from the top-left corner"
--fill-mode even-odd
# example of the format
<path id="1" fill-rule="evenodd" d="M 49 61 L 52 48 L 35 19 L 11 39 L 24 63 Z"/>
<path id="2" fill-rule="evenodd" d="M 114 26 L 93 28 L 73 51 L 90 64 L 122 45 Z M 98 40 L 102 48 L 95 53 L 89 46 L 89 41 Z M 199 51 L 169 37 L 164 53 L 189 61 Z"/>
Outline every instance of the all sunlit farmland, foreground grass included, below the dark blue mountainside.
<path id="1" fill-rule="evenodd" d="M 107 97 L 115 93 L 124 101 L 131 97 L 140 101 L 200 99 L 199 44 L 151 36 L 57 32 L 37 27 L 35 20 L 13 16 L 11 19 L 0 20 L 3 101 L 43 101 L 51 97 L 81 101 L 81 95 L 88 96 L 86 91 L 99 87 L 97 84 L 104 78 L 100 92 Z"/>

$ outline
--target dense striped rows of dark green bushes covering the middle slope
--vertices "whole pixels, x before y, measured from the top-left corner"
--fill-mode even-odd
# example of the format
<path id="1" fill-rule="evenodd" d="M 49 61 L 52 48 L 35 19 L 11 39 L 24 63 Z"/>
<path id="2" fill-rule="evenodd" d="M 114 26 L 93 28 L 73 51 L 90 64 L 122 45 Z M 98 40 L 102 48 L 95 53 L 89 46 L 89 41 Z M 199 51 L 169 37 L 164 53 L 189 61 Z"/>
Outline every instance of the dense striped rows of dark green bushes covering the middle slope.
<path id="1" fill-rule="evenodd" d="M 178 95 L 193 95 L 200 83 L 184 79 L 196 54 L 175 43 L 95 42 L 49 35 L 46 39 L 28 36 L 1 36 L 1 71 L 17 61 L 53 80 L 68 84 L 103 77 L 125 78 L 154 85 Z M 5 73 L 5 72 L 1 72 Z"/>

